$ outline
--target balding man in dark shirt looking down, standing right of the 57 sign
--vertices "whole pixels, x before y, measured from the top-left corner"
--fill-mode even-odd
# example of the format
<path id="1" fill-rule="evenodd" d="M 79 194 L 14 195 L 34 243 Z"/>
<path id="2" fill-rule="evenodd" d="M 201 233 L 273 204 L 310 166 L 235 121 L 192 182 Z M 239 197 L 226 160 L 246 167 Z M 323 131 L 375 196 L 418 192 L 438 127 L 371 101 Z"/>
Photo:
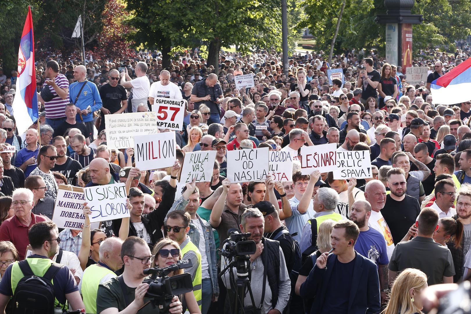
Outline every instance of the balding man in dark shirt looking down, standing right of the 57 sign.
<path id="1" fill-rule="evenodd" d="M 214 73 L 196 82 L 190 96 L 190 100 L 195 103 L 195 109 L 198 109 L 202 104 L 210 108 L 211 116 L 207 122 L 208 124 L 219 123 L 221 121 L 219 113 L 220 104 L 223 99 L 224 96 L 218 83 L 218 76 Z"/>

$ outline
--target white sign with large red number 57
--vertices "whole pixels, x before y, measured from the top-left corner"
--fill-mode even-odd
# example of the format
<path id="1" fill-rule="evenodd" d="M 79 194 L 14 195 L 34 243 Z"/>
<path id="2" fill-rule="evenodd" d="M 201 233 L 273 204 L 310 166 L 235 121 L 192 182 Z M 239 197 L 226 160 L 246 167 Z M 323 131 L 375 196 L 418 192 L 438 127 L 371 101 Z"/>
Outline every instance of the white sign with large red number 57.
<path id="1" fill-rule="evenodd" d="M 155 97 L 152 111 L 157 115 L 157 128 L 181 131 L 186 104 L 185 99 Z"/>

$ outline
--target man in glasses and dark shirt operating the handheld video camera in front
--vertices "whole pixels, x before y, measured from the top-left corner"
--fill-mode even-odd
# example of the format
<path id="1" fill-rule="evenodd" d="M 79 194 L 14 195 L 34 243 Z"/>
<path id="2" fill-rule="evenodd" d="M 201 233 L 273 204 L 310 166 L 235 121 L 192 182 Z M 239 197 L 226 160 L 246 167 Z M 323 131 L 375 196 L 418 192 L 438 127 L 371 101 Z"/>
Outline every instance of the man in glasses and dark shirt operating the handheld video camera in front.
<path id="1" fill-rule="evenodd" d="M 97 314 L 155 314 L 150 299 L 145 299 L 149 285 L 142 283 L 154 257 L 144 239 L 130 236 L 122 243 L 121 258 L 124 272 L 117 278 L 98 286 Z M 170 305 L 171 314 L 181 314 L 183 307 L 175 296 Z"/>

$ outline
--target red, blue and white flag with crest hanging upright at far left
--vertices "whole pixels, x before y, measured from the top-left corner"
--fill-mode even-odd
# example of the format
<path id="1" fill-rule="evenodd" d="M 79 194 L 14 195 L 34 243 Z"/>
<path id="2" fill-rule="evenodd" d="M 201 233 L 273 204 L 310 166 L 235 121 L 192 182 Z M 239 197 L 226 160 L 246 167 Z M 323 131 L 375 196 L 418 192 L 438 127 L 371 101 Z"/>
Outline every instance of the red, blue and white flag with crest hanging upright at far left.
<path id="1" fill-rule="evenodd" d="M 13 100 L 13 115 L 18 134 L 22 134 L 38 120 L 38 97 L 36 95 L 36 71 L 34 68 L 34 35 L 32 32 L 31 8 L 24 22 L 18 51 L 18 74 L 16 95 Z"/>

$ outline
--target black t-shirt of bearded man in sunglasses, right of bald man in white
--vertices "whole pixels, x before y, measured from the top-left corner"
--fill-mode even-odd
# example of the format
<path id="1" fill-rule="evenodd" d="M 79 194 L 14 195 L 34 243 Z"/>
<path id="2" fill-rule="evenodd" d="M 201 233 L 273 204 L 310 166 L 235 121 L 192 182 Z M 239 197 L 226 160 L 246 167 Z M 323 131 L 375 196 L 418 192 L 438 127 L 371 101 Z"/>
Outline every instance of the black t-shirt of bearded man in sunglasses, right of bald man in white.
<path id="1" fill-rule="evenodd" d="M 391 195 L 386 196 L 386 203 L 381 209 L 384 220 L 389 226 L 392 239 L 396 245 L 404 238 L 411 225 L 415 223 L 420 213 L 419 201 L 406 194 L 402 201 L 395 201 Z"/>

